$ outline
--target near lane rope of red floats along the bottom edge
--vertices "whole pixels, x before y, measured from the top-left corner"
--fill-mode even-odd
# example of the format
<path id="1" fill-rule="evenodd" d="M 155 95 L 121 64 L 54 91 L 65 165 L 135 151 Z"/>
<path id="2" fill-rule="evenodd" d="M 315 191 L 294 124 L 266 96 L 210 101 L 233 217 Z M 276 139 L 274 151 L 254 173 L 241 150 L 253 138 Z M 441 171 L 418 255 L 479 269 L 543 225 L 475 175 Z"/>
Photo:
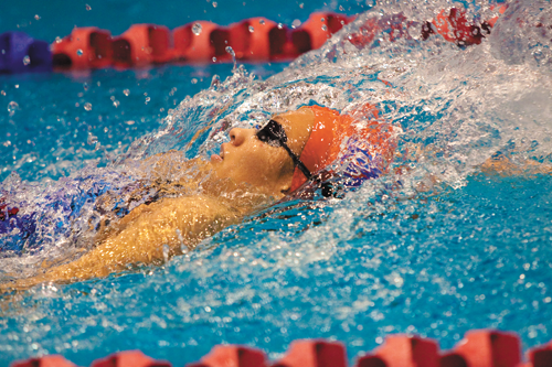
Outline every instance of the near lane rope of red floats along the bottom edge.
<path id="1" fill-rule="evenodd" d="M 184 353 L 182 353 L 184 355 Z M 59 355 L 15 361 L 11 367 L 74 367 Z M 96 359 L 91 367 L 170 367 L 139 350 L 119 352 Z M 263 350 L 217 345 L 200 361 L 185 367 L 347 367 L 343 344 L 322 339 L 295 341 L 288 352 L 270 363 Z M 521 343 L 514 333 L 478 330 L 466 333 L 452 350 L 439 352 L 437 342 L 408 335 L 390 335 L 385 343 L 357 358 L 353 367 L 551 367 L 552 341 L 531 348 L 521 360 Z"/>

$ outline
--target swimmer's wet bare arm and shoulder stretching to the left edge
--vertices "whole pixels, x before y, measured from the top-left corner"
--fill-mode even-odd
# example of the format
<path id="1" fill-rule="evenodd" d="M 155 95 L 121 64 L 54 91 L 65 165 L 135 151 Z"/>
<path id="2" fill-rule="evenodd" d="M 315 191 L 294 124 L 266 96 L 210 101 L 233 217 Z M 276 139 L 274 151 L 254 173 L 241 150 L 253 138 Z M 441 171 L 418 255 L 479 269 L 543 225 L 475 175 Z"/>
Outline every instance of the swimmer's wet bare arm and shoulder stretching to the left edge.
<path id="1" fill-rule="evenodd" d="M 166 198 L 135 211 L 132 220 L 123 230 L 79 259 L 6 288 L 106 277 L 130 266 L 160 263 L 164 259 L 164 245 L 169 247 L 169 256 L 182 253 L 182 248 L 191 249 L 203 238 L 242 218 L 238 212 L 209 196 Z"/>

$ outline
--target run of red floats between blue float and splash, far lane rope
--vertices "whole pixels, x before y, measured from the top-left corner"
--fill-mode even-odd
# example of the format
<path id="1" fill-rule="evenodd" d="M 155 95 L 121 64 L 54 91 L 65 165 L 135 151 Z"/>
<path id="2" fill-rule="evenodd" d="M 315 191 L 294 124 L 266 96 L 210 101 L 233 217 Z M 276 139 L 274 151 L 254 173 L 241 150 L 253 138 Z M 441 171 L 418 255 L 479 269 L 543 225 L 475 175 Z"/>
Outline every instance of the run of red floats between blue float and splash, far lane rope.
<path id="1" fill-rule="evenodd" d="M 290 61 L 320 47 L 354 17 L 330 12 L 312 13 L 297 29 L 265 18 L 251 18 L 229 26 L 198 21 L 174 29 L 136 24 L 119 36 L 97 28 L 75 28 L 71 35 L 52 44 L 55 69 L 142 67 L 168 62 L 204 64 L 236 60 Z"/>

